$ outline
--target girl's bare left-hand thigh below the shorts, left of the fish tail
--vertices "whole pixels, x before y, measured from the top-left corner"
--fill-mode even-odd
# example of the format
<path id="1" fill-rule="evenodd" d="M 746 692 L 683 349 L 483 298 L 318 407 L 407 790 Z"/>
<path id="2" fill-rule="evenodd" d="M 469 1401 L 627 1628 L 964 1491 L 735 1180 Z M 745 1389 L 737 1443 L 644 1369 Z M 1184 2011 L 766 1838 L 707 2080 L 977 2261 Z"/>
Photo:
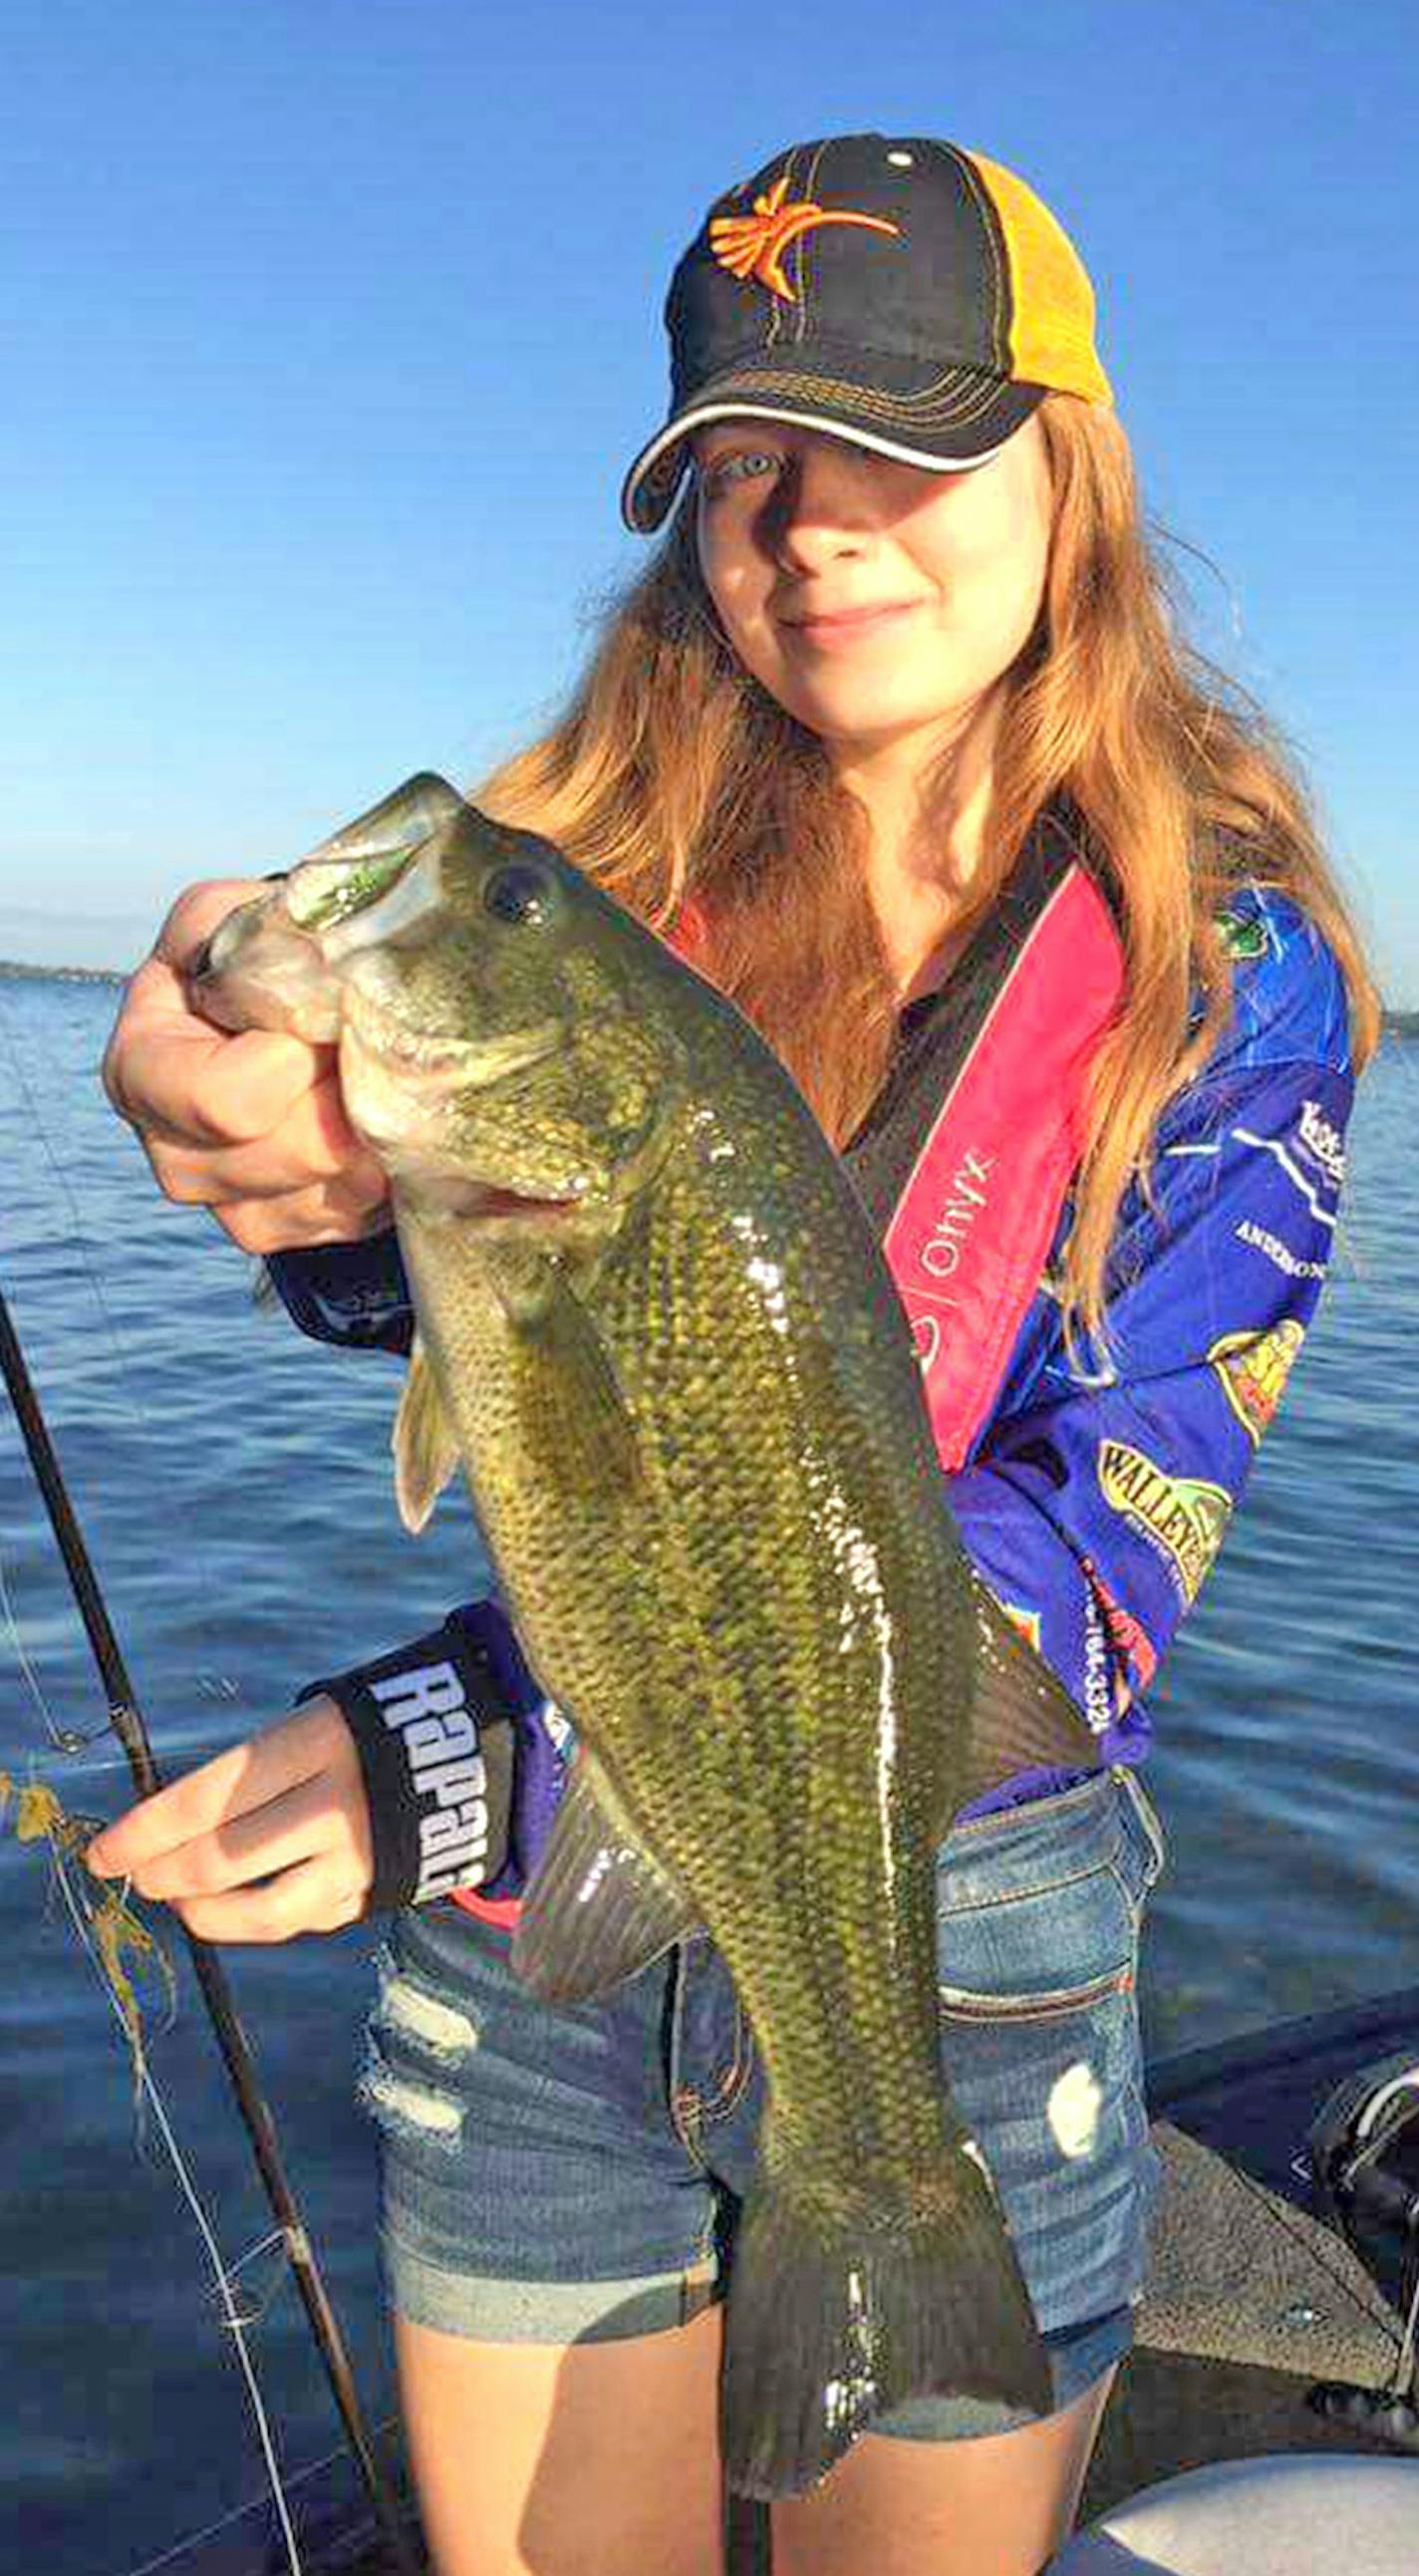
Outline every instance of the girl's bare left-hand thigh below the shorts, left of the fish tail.
<path id="1" fill-rule="evenodd" d="M 394 2318 L 435 2576 L 721 2576 L 721 2311 L 605 2344 Z"/>

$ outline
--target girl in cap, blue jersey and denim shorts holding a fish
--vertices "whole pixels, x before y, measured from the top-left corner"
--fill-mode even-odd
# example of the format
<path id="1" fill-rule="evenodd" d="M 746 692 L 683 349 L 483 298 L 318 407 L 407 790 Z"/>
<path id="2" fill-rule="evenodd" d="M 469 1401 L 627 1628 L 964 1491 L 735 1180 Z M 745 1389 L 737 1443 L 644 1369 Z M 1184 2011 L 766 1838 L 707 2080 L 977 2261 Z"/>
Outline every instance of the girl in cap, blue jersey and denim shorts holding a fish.
<path id="1" fill-rule="evenodd" d="M 670 531 L 564 721 L 479 801 L 675 938 L 798 1077 L 883 1231 L 984 1610 L 1092 1728 L 940 1852 L 943 2050 L 1053 2411 L 914 2398 L 773 2509 L 778 2576 L 1033 2576 L 1143 2275 L 1143 1695 L 1313 1311 L 1378 1007 L 1298 781 L 1177 641 L 1089 281 L 1020 178 L 917 137 L 783 152 L 711 209 L 667 322 L 672 410 L 623 507 Z M 330 1051 L 185 1007 L 245 894 L 173 909 L 111 1100 L 306 1332 L 407 1347 Z M 752 2032 L 706 1942 L 572 2014 L 520 1994 L 507 1919 L 564 1731 L 494 1605 L 438 1643 L 489 1747 L 497 1700 L 518 1721 L 492 1878 L 440 1901 L 391 1857 L 409 1793 L 368 1759 L 368 1667 L 93 1860 L 209 1940 L 422 1896 L 366 2099 L 435 2566 L 713 2576 Z"/>

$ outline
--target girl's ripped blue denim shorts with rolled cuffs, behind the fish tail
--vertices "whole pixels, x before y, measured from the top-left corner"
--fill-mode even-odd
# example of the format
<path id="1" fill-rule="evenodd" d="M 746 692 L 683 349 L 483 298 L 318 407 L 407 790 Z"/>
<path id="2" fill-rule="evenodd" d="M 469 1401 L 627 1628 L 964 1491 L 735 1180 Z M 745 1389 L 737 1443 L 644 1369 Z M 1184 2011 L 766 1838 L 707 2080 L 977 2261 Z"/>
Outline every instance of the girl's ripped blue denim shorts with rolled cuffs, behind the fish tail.
<path id="1" fill-rule="evenodd" d="M 943 2066 L 994 2174 L 1069 2406 L 1131 2344 L 1159 2159 L 1138 2040 L 1138 1927 L 1161 1868 L 1125 1770 L 968 1819 L 937 1860 Z M 657 2334 L 724 2295 L 762 2066 L 708 1937 L 551 2009 L 510 1935 L 451 1904 L 394 1919 L 361 2099 L 381 2136 L 391 2306 L 476 2342 Z M 922 2396 L 878 2432 L 1007 2432 Z"/>

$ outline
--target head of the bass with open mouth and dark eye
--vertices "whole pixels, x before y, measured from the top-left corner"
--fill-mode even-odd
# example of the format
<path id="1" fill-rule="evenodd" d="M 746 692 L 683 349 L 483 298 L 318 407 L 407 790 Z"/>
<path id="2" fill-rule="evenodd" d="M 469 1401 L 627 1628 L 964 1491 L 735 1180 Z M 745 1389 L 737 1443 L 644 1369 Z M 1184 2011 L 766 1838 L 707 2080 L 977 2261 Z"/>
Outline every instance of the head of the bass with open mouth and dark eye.
<path id="1" fill-rule="evenodd" d="M 412 778 L 193 969 L 227 1028 L 340 1043 L 350 1126 L 420 1216 L 616 1221 L 682 1095 L 688 969 L 533 832 Z"/>

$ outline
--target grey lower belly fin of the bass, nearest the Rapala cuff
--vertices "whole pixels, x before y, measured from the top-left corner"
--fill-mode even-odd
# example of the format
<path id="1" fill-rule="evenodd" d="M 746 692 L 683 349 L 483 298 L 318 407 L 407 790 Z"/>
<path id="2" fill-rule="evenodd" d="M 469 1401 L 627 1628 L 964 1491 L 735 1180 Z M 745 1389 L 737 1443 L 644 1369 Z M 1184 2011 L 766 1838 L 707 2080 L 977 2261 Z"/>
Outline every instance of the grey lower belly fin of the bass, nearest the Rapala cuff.
<path id="1" fill-rule="evenodd" d="M 600 1762 L 579 1744 L 512 1935 L 520 1981 L 543 2004 L 585 2004 L 695 1929 L 685 1891 L 641 1847 Z"/>

